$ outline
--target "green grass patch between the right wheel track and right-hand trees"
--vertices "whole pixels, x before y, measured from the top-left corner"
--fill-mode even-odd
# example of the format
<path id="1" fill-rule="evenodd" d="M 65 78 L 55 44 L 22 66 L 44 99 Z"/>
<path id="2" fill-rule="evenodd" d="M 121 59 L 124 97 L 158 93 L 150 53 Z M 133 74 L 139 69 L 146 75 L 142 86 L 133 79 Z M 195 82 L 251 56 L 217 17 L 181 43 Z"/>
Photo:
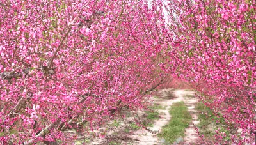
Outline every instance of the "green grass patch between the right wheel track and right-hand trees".
<path id="1" fill-rule="evenodd" d="M 218 114 L 219 117 L 215 116 L 211 109 L 204 105 L 204 103 L 199 102 L 196 105 L 196 109 L 204 114 L 200 113 L 198 115 L 198 128 L 200 134 L 204 135 L 206 139 L 212 139 L 216 135 L 215 130 L 220 128 L 220 132 L 225 132 L 226 136 L 223 137 L 224 141 L 230 140 L 230 131 L 227 130 L 227 125 L 225 124 L 225 119 Z M 207 115 L 205 115 L 207 113 Z"/>

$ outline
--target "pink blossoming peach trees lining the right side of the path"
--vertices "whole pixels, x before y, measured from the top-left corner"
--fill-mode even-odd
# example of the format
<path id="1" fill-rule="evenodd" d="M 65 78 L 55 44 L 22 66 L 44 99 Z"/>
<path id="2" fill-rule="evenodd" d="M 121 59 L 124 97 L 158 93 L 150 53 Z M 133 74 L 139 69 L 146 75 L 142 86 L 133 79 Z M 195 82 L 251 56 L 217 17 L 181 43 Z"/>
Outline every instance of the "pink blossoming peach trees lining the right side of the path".
<path id="1" fill-rule="evenodd" d="M 192 82 L 198 97 L 228 126 L 242 131 L 230 142 L 256 137 L 255 1 L 154 1 L 165 28 L 166 73 Z M 164 8 L 164 10 L 161 10 Z M 162 45 L 164 47 L 164 45 Z M 218 130 L 217 130 L 218 131 Z M 224 133 L 216 135 L 223 141 Z M 230 144 L 230 142 L 226 144 Z"/>

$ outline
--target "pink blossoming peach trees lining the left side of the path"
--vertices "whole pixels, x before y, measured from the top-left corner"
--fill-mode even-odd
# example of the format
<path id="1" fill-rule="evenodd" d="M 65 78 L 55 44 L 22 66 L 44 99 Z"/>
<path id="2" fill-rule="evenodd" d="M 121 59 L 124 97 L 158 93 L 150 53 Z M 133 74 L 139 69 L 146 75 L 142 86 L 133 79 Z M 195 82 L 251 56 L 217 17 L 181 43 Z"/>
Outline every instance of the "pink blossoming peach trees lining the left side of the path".
<path id="1" fill-rule="evenodd" d="M 1 0 L 0 144 L 67 143 L 143 108 L 164 78 L 152 15 L 145 1 Z"/>

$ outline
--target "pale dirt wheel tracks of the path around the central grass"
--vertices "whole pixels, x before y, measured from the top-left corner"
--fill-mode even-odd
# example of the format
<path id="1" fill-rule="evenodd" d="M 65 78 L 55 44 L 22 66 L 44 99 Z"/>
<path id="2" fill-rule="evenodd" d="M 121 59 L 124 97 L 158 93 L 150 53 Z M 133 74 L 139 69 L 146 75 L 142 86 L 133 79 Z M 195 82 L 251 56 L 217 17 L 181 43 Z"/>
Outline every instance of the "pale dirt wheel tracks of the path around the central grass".
<path id="1" fill-rule="evenodd" d="M 192 123 L 189 125 L 189 128 L 186 128 L 186 137 L 184 140 L 177 141 L 177 143 L 181 144 L 197 144 L 198 135 L 196 134 L 196 130 L 193 127 L 193 123 L 198 124 L 197 121 L 197 111 L 195 110 L 195 105 L 198 100 L 195 97 L 191 97 L 194 95 L 193 91 L 184 91 L 184 90 L 175 90 L 173 89 L 163 89 L 159 92 L 159 97 L 155 99 L 155 103 L 166 106 L 166 109 L 159 110 L 160 119 L 154 121 L 154 127 L 150 128 L 151 130 L 161 130 L 161 128 L 170 121 L 171 116 L 169 114 L 170 107 L 172 103 L 184 101 L 188 106 L 189 112 L 192 115 Z M 188 96 L 188 97 L 186 97 Z M 163 144 L 164 139 L 158 139 L 157 135 L 151 134 L 146 130 L 138 130 L 131 135 L 131 138 L 135 140 L 134 145 L 142 145 L 142 144 Z"/>

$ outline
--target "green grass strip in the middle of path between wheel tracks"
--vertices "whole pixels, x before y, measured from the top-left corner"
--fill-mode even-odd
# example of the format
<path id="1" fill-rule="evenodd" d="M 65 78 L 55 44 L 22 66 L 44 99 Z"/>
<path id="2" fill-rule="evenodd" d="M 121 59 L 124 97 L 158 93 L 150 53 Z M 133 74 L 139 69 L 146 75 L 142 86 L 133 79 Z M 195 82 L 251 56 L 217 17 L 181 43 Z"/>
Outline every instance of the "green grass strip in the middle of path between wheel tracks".
<path id="1" fill-rule="evenodd" d="M 173 144 L 177 138 L 185 136 L 185 129 L 188 128 L 192 117 L 184 102 L 173 103 L 169 113 L 172 118 L 167 125 L 163 126 L 159 137 Z"/>

